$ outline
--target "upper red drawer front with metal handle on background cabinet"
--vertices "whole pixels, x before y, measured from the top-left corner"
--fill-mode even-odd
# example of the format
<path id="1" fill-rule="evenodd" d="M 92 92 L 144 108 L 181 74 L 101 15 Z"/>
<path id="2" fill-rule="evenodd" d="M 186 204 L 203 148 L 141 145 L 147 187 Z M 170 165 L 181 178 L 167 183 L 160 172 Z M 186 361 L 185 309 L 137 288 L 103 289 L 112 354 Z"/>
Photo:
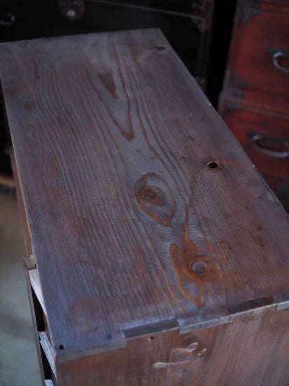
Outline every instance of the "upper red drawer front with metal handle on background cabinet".
<path id="1" fill-rule="evenodd" d="M 231 42 L 229 83 L 289 94 L 289 15 L 242 8 Z"/>

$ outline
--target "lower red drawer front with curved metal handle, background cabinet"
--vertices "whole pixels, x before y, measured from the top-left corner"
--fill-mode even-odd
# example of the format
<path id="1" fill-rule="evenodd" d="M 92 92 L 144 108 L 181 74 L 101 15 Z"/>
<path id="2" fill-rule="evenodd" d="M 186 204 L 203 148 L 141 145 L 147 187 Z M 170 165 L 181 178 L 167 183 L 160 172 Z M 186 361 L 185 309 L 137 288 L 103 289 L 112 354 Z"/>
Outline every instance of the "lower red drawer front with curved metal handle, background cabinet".
<path id="1" fill-rule="evenodd" d="M 289 117 L 235 107 L 225 108 L 222 117 L 260 171 L 281 180 L 289 178 Z"/>

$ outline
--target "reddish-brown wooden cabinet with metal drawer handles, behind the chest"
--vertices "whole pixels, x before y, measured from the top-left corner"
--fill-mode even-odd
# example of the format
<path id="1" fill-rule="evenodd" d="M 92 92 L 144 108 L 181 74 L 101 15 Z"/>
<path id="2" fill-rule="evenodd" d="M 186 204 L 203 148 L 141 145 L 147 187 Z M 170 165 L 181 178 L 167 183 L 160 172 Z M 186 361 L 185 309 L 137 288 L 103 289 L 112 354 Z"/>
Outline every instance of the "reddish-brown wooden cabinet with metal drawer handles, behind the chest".
<path id="1" fill-rule="evenodd" d="M 239 1 L 220 112 L 289 210 L 288 1 Z"/>

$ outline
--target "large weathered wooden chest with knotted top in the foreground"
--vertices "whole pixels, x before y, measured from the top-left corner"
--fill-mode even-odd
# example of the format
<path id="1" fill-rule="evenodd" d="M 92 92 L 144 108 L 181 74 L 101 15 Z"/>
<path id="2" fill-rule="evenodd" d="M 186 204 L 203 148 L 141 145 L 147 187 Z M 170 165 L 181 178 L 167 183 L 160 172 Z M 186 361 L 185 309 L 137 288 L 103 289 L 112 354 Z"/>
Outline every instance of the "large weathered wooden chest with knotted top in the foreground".
<path id="1" fill-rule="evenodd" d="M 157 29 L 1 44 L 43 385 L 289 385 L 289 222 Z"/>

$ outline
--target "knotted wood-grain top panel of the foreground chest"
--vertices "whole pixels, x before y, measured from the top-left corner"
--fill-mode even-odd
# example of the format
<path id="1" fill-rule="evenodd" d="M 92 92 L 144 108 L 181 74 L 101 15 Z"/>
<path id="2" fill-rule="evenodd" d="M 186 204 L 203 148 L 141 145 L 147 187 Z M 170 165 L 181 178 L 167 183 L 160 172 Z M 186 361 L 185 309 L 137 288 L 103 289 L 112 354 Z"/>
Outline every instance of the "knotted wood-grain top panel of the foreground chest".
<path id="1" fill-rule="evenodd" d="M 1 44 L 0 76 L 57 354 L 286 297 L 288 218 L 161 32 Z"/>

